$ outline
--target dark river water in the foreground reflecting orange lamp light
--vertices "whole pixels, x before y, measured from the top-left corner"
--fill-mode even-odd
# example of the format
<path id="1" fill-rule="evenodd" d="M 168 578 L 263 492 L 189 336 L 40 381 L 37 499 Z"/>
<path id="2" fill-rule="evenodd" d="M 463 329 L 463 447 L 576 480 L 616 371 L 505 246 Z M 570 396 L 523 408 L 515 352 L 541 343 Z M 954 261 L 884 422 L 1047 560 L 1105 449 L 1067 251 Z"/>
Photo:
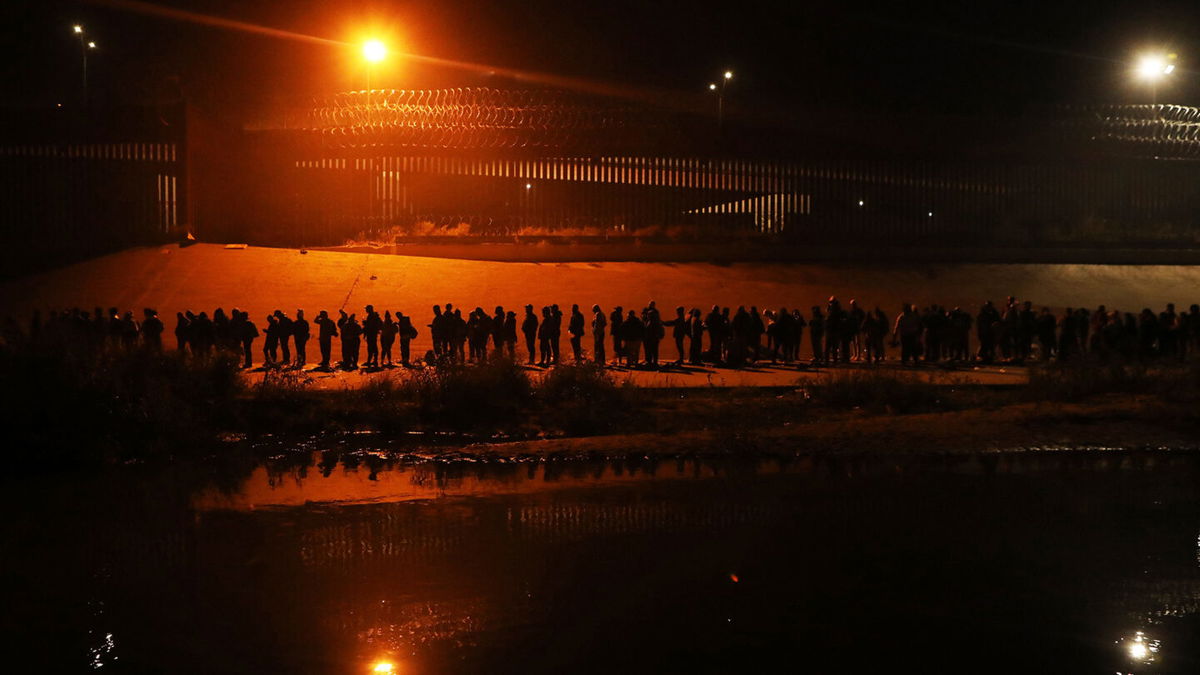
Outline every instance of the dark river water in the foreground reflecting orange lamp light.
<path id="1" fill-rule="evenodd" d="M 1181 453 L 289 453 L 4 495 L 8 673 L 1200 671 Z"/>

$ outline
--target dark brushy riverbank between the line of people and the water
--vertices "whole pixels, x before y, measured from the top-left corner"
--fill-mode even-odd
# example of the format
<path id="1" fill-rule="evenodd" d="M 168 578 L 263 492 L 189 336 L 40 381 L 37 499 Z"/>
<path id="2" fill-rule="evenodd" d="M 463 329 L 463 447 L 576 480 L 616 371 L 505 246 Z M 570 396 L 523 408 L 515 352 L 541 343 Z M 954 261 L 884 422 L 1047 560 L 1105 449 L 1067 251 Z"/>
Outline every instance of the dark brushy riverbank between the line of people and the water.
<path id="1" fill-rule="evenodd" d="M 788 388 L 647 390 L 592 365 L 560 366 L 533 381 L 502 360 L 330 392 L 314 389 L 300 371 L 271 371 L 246 388 L 236 362 L 223 354 L 187 359 L 119 348 L 90 354 L 0 351 L 5 382 L 20 383 L 4 389 L 2 405 L 11 447 L 23 456 L 104 462 L 203 454 L 228 432 L 251 438 L 432 432 L 460 448 L 558 438 L 541 450 L 637 446 L 672 454 L 1178 446 L 1193 443 L 1200 430 L 1200 365 L 1194 364 L 1039 366 L 1030 386 L 1018 388 L 853 370 Z"/>

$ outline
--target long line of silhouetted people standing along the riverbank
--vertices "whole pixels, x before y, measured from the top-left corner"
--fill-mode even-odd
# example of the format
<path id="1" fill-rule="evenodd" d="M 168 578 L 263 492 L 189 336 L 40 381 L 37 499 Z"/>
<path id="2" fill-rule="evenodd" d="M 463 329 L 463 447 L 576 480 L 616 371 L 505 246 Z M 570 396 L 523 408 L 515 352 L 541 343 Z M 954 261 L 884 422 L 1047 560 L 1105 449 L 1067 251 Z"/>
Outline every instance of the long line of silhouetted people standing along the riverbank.
<path id="1" fill-rule="evenodd" d="M 520 318 L 503 306 L 491 313 L 475 307 L 464 318 L 462 309 L 451 303 L 433 305 L 432 313 L 425 324 L 432 348 L 419 359 L 427 364 L 517 360 L 517 344 L 523 341 L 530 365 L 553 366 L 560 363 L 564 322 L 575 363 L 643 369 L 684 364 L 742 368 L 764 362 L 878 363 L 888 358 L 889 348 L 898 348 L 899 360 L 906 365 L 1066 362 L 1081 354 L 1102 359 L 1183 359 L 1200 347 L 1200 305 L 1186 312 L 1176 312 L 1172 304 L 1157 313 L 1150 309 L 1120 312 L 1104 305 L 1094 311 L 1067 307 L 1054 312 L 1012 297 L 1000 306 L 989 300 L 974 313 L 960 307 L 918 309 L 905 304 L 894 319 L 878 306 L 865 310 L 856 300 L 842 306 L 838 298 L 806 313 L 787 307 L 760 312 L 757 306 L 731 311 L 713 305 L 708 312 L 678 306 L 673 315 L 664 317 L 653 300 L 640 311 L 620 306 L 606 311 L 593 305 L 590 316 L 580 305 L 571 305 L 569 315 L 558 305 L 540 310 L 526 305 Z M 0 340 L 16 345 L 52 336 L 90 347 L 161 351 L 166 329 L 152 309 L 143 310 L 140 318 L 115 307 L 96 307 L 92 312 L 72 309 L 50 312 L 44 321 L 35 312 L 28 329 L 8 317 Z M 304 310 L 296 310 L 294 316 L 276 310 L 262 324 L 239 309 L 227 313 L 218 307 L 211 316 L 182 311 L 175 315 L 173 331 L 180 352 L 205 356 L 216 350 L 234 351 L 240 353 L 245 369 L 254 368 L 254 342 L 260 338 L 263 369 L 304 369 L 308 365 L 308 340 L 316 336 L 320 352 L 316 368 L 326 371 L 413 365 L 412 341 L 420 334 L 410 316 L 398 310 L 380 315 L 372 305 L 364 307 L 361 321 L 344 310 L 338 310 L 337 318 L 322 310 L 312 323 Z M 335 339 L 340 347 L 337 360 L 332 356 Z M 660 359 L 660 345 L 667 339 L 673 351 Z M 366 354 L 360 360 L 364 345 Z M 665 360 L 672 356 L 673 360 Z"/>

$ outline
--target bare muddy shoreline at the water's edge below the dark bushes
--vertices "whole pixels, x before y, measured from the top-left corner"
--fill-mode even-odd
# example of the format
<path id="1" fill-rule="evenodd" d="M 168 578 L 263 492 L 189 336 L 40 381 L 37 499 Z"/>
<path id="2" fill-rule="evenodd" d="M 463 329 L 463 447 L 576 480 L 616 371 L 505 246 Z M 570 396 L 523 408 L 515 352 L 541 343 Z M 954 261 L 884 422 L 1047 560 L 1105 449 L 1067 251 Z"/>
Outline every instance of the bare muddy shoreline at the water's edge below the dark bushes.
<path id="1" fill-rule="evenodd" d="M 1200 424 L 1177 406 L 1145 396 L 1115 395 L 1072 404 L 1021 402 L 918 414 L 820 411 L 756 425 L 740 419 L 679 429 L 594 436 L 514 440 L 445 438 L 427 444 L 379 434 L 310 437 L 305 449 L 330 441 L 329 452 L 398 461 L 569 461 L 601 459 L 763 459 L 802 455 L 970 455 L 1015 452 L 1200 452 Z M 335 441 L 336 438 L 336 441 Z M 446 442 L 449 441 L 449 442 Z M 278 452 L 274 438 L 258 453 Z"/>

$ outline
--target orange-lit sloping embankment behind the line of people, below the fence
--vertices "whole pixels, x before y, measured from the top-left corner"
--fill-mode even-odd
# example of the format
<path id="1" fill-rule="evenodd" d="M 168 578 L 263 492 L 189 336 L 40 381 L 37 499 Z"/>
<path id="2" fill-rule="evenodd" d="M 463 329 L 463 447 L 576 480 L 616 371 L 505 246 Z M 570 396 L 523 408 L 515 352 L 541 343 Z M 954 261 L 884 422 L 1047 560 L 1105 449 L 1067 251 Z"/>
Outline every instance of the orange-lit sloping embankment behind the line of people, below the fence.
<path id="1" fill-rule="evenodd" d="M 1200 268 L 1186 265 L 1056 265 L 1056 264 L 779 264 L 739 263 L 500 263 L 392 255 L 289 249 L 226 250 L 198 244 L 145 247 L 104 256 L 36 276 L 0 285 L 0 312 L 28 317 L 79 305 L 140 310 L 157 307 L 173 325 L 179 310 L 238 306 L 257 323 L 271 310 L 289 313 L 304 307 L 310 318 L 320 309 L 331 313 L 346 306 L 362 313 L 362 305 L 415 315 L 421 335 L 414 353 L 428 347 L 425 323 L 434 303 L 454 303 L 491 311 L 497 304 L 520 312 L 558 303 L 569 311 L 578 303 L 587 313 L 593 303 L 605 310 L 616 304 L 641 309 L 658 300 L 664 313 L 685 305 L 707 310 L 713 304 L 760 309 L 810 307 L 836 294 L 876 304 L 895 316 L 902 301 L 961 305 L 974 311 L 1007 295 L 1037 305 L 1088 306 L 1140 311 L 1165 303 L 1187 306 L 1200 300 Z M 168 339 L 168 342 L 172 340 Z M 566 341 L 563 341 L 564 348 Z M 311 350 L 316 352 L 316 350 Z M 673 346 L 664 344 L 664 356 Z M 793 371 L 696 372 L 670 376 L 674 384 L 786 384 Z M 1015 374 L 989 375 L 986 381 L 1010 382 Z M 667 383 L 660 374 L 638 374 L 640 383 Z M 356 380 L 358 376 L 342 377 Z M 998 378 L 998 380 L 994 380 Z M 330 382 L 331 383 L 331 382 Z"/>

